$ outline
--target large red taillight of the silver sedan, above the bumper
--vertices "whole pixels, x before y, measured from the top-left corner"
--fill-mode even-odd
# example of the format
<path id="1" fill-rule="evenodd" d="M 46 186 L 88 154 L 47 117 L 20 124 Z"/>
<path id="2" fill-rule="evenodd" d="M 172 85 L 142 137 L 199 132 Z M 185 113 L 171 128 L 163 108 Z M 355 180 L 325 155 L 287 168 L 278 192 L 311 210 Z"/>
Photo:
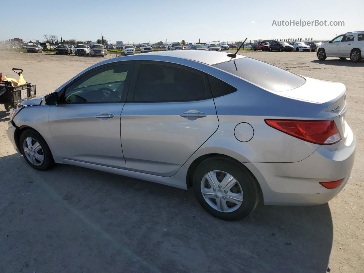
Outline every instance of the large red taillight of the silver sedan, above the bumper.
<path id="1" fill-rule="evenodd" d="M 293 137 L 320 145 L 341 141 L 333 120 L 266 119 L 266 124 Z"/>

